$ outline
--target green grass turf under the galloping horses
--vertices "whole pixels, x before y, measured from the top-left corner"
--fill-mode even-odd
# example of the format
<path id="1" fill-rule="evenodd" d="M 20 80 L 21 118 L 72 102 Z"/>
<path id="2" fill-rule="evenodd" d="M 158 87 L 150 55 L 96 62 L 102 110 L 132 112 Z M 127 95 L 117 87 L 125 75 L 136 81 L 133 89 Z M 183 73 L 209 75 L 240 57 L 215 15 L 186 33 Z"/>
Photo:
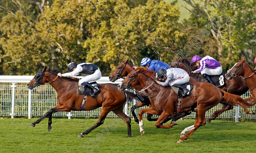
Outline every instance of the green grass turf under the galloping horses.
<path id="1" fill-rule="evenodd" d="M 109 135 L 105 126 L 115 121 L 106 119 L 104 124 L 93 130 L 85 137 L 77 137 L 84 132 L 97 119 L 55 119 L 52 120 L 52 130 L 48 132 L 48 118 L 35 127 L 29 127 L 34 119 L 0 119 L 0 152 L 88 152 L 84 148 L 94 146 L 93 153 L 98 152 L 256 152 L 256 123 L 234 123 L 227 121 L 212 121 L 197 129 L 190 138 L 178 144 L 180 132 L 194 124 L 193 119 L 178 120 L 179 125 L 172 129 L 157 129 L 155 122 L 144 119 L 143 136 L 140 135 L 139 126 L 132 120 L 132 137 L 127 136 L 126 124 L 118 119 L 116 129 L 108 127 Z M 170 122 L 170 121 L 169 121 Z M 168 122 L 168 123 L 169 123 Z M 105 139 L 96 141 L 96 135 L 102 133 Z M 94 139 L 98 146 L 90 142 Z M 101 137 L 103 138 L 103 137 Z M 85 144 L 86 142 L 88 144 Z M 83 148 L 84 145 L 84 148 Z"/>

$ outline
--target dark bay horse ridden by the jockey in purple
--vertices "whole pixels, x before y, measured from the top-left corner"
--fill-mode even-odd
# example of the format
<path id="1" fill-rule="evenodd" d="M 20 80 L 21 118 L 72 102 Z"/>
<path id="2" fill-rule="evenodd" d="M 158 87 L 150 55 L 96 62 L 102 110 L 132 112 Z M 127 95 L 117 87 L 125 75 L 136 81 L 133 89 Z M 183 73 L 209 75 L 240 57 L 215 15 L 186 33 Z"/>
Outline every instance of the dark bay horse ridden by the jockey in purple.
<path id="1" fill-rule="evenodd" d="M 178 64 L 173 62 L 172 64 L 170 64 L 170 67 L 182 68 L 183 70 L 188 72 L 188 71 L 190 71 L 190 66 L 191 66 L 191 71 L 197 70 L 197 67 L 194 64 L 190 65 L 190 61 L 185 58 L 181 58 L 181 60 L 177 61 L 177 63 Z M 208 82 L 203 77 L 203 75 L 201 75 L 199 73 L 198 74 L 196 74 L 196 73 L 190 74 L 190 76 L 193 77 L 194 79 L 196 79 L 198 82 Z M 244 93 L 246 93 L 249 89 L 246 82 L 244 81 L 244 79 L 234 78 L 231 81 L 229 81 L 228 79 L 226 79 L 225 81 L 226 81 L 226 84 L 222 85 L 219 88 L 230 93 L 230 94 L 241 96 Z M 214 113 L 212 113 L 211 117 L 208 120 L 206 120 L 206 122 L 211 122 L 211 120 L 215 120 L 215 118 L 217 118 L 221 113 L 228 111 L 228 110 L 232 110 L 235 106 L 234 104 L 228 103 L 226 101 L 221 102 L 221 104 L 223 104 L 222 109 L 216 110 Z"/>

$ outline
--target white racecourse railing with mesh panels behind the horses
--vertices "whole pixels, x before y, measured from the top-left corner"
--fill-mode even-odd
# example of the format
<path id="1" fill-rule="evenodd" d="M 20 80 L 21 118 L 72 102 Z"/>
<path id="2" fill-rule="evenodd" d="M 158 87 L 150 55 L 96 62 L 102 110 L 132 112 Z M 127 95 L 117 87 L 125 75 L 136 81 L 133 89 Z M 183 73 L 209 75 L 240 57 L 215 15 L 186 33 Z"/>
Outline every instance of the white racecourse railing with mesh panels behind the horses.
<path id="1" fill-rule="evenodd" d="M 46 112 L 48 112 L 51 108 L 57 105 L 58 95 L 55 89 L 51 85 L 41 85 L 33 90 L 27 88 L 27 85 L 19 85 L 20 83 L 27 83 L 34 76 L 0 76 L 0 116 L 43 116 Z M 123 79 L 119 79 L 115 84 L 119 84 Z M 113 83 L 108 80 L 108 77 L 101 77 L 100 80 L 97 81 L 99 84 L 101 83 Z M 5 85 L 4 85 L 5 84 Z M 133 92 L 133 90 L 130 90 Z M 250 92 L 246 92 L 242 95 L 242 98 L 250 97 Z M 127 102 L 124 107 L 124 112 L 132 117 L 132 113 L 130 111 L 131 107 L 136 103 L 136 101 Z M 140 110 L 148 108 L 148 106 L 140 107 L 135 110 L 136 114 L 139 113 Z M 206 118 L 209 118 L 213 112 L 222 108 L 221 104 L 213 107 L 212 109 L 206 112 Z M 256 112 L 256 106 L 250 107 L 249 111 L 253 110 Z M 57 112 L 54 113 L 53 116 L 68 116 L 70 119 L 71 116 L 79 116 L 79 117 L 98 117 L 100 115 L 101 108 L 91 110 L 91 111 L 71 111 L 67 112 Z M 116 115 L 113 112 L 108 113 L 108 117 L 115 117 Z M 144 114 L 146 117 L 146 114 Z M 153 116 L 157 117 L 157 116 Z M 186 116 L 188 118 L 194 118 L 195 113 L 192 112 L 190 115 Z M 240 109 L 238 106 L 234 106 L 233 110 L 226 111 L 222 113 L 219 118 L 235 118 L 236 122 L 238 122 L 238 118 L 256 118 L 256 115 L 249 115 L 244 113 L 243 109 Z"/>

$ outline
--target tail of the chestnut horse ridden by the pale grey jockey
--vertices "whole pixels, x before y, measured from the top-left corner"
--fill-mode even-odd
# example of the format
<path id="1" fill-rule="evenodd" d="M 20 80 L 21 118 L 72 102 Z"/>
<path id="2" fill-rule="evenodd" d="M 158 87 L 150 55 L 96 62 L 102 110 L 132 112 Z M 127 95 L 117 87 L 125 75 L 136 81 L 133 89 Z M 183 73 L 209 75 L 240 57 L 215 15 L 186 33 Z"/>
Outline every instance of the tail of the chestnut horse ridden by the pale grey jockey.
<path id="1" fill-rule="evenodd" d="M 243 98 L 241 98 L 238 95 L 233 95 L 230 94 L 228 92 L 225 92 L 224 90 L 220 89 L 223 95 L 223 101 L 229 102 L 230 104 L 235 104 L 235 105 L 240 105 L 240 106 L 254 106 L 256 104 L 256 100 L 254 99 L 252 103 L 247 103 L 246 101 L 244 101 Z"/>

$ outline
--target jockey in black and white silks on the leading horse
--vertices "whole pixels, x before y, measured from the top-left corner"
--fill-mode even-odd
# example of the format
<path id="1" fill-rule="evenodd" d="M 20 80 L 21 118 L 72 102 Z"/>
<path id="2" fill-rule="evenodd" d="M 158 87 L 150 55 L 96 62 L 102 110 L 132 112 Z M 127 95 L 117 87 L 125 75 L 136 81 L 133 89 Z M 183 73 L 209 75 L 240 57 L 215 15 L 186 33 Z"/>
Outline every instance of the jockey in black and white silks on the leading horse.
<path id="1" fill-rule="evenodd" d="M 92 90 L 91 96 L 94 96 L 96 93 L 100 92 L 99 89 L 96 89 L 92 86 L 89 82 L 96 81 L 101 78 L 101 71 L 100 69 L 92 64 L 92 63 L 80 63 L 76 64 L 75 62 L 71 62 L 68 64 L 68 73 L 58 73 L 61 77 L 72 77 L 81 74 L 88 74 L 79 80 L 79 89 L 78 92 L 80 94 L 84 94 L 85 90 L 84 87 L 87 87 Z"/>

